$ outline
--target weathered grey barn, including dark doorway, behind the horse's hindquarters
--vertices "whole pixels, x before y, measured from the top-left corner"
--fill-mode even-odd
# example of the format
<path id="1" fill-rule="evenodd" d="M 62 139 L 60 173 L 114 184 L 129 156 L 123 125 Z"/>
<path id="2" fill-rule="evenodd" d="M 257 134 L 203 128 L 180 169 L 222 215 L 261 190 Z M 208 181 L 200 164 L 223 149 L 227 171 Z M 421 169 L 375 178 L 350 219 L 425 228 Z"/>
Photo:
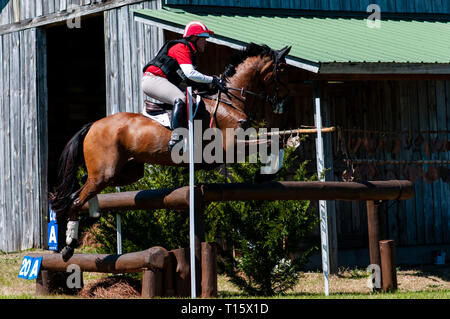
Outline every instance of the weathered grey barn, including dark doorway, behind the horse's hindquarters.
<path id="1" fill-rule="evenodd" d="M 160 1 L 0 1 L 0 251 L 46 241 L 47 192 L 88 122 L 139 112 L 141 68 L 163 44 L 134 9 Z"/>

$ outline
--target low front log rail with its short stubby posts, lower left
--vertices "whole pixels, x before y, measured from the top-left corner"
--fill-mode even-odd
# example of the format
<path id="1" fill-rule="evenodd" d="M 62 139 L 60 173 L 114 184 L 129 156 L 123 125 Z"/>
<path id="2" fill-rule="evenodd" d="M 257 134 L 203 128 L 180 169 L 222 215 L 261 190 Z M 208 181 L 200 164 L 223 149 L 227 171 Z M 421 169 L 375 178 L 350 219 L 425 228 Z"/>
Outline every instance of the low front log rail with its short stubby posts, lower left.
<path id="1" fill-rule="evenodd" d="M 201 296 L 217 296 L 217 271 L 214 244 L 202 243 Z M 42 257 L 41 269 L 36 280 L 36 293 L 49 295 L 65 290 L 66 273 L 70 265 L 80 267 L 83 272 L 138 273 L 142 272 L 141 296 L 189 297 L 190 267 L 189 249 L 180 248 L 167 251 L 163 247 L 152 247 L 143 251 L 121 254 L 74 254 L 64 262 L 61 254 L 29 254 Z M 81 277 L 82 282 L 82 277 Z"/>

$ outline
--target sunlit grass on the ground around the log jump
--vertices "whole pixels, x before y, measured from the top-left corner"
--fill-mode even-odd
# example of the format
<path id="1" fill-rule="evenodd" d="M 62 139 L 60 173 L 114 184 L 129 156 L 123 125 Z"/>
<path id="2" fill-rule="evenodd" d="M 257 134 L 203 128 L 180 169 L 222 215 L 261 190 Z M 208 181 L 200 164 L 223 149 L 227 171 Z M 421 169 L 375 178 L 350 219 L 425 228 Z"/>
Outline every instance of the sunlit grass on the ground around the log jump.
<path id="1" fill-rule="evenodd" d="M 0 254 L 0 299 L 34 299 L 34 298 L 79 298 L 76 296 L 36 296 L 35 280 L 17 277 L 23 259 L 28 250 L 19 253 Z M 50 252 L 48 252 L 50 253 Z M 85 286 L 107 274 L 84 273 Z M 322 273 L 300 273 L 298 284 L 282 296 L 283 299 L 450 299 L 450 265 L 425 265 L 420 267 L 398 267 L 398 290 L 395 293 L 373 293 L 367 287 L 365 269 L 341 268 L 338 274 L 330 275 L 330 295 L 323 293 Z M 218 276 L 219 298 L 258 298 L 245 296 L 227 277 Z"/>

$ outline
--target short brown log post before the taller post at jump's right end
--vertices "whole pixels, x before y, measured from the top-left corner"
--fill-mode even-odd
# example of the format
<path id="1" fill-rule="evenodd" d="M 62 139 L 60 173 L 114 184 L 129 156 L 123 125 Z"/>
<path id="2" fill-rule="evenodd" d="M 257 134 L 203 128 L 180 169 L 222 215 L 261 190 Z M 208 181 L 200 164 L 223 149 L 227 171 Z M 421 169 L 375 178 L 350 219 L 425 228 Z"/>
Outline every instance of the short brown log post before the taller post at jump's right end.
<path id="1" fill-rule="evenodd" d="M 381 240 L 381 276 L 384 292 L 397 290 L 397 271 L 395 269 L 395 244 L 393 240 Z"/>

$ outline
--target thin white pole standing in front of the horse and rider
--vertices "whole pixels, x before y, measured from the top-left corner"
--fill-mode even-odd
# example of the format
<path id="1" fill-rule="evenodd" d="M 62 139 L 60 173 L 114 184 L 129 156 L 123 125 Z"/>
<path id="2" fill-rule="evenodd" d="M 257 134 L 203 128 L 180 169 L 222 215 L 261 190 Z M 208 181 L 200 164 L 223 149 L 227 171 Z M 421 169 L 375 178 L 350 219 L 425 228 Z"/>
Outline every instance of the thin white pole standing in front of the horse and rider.
<path id="1" fill-rule="evenodd" d="M 194 119 L 192 118 L 192 87 L 186 89 L 189 110 L 189 244 L 191 262 L 191 298 L 197 298 L 195 281 L 195 205 L 194 205 Z"/>

